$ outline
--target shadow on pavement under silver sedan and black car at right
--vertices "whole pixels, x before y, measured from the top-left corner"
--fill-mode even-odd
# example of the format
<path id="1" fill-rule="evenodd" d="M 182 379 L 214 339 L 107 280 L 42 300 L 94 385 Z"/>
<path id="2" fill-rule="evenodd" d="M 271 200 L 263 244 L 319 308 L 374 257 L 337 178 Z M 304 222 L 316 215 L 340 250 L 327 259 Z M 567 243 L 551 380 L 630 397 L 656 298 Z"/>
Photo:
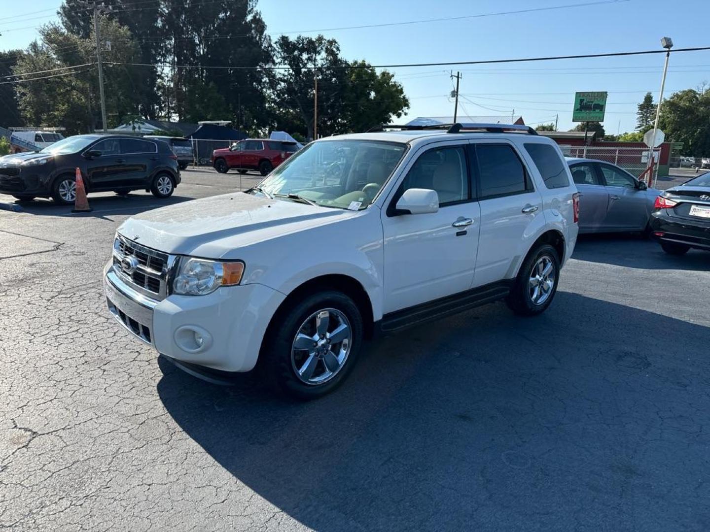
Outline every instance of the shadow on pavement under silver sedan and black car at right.
<path id="1" fill-rule="evenodd" d="M 706 251 L 668 255 L 655 240 L 628 233 L 579 235 L 572 258 L 641 270 L 710 270 L 710 253 Z"/>

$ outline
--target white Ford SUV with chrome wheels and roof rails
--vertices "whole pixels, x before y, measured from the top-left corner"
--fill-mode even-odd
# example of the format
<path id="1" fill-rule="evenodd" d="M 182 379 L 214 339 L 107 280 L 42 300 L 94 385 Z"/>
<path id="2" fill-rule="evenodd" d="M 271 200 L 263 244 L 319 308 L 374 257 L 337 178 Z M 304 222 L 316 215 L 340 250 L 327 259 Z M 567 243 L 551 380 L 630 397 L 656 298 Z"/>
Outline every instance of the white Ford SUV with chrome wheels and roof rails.
<path id="1" fill-rule="evenodd" d="M 107 303 L 193 375 L 258 367 L 275 389 L 319 397 L 378 331 L 498 299 L 547 309 L 577 209 L 559 148 L 525 126 L 335 136 L 246 193 L 129 218 Z"/>

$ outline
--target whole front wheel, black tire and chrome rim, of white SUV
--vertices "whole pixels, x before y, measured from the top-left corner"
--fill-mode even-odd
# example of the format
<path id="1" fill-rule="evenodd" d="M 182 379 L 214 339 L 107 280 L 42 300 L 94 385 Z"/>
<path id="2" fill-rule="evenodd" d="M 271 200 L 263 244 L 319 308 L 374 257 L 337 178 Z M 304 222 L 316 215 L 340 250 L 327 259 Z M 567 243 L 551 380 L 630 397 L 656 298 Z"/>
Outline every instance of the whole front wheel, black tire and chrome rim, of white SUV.
<path id="1" fill-rule="evenodd" d="M 363 338 L 354 301 L 331 290 L 294 300 L 274 317 L 260 369 L 271 387 L 296 399 L 316 399 L 347 377 Z"/>

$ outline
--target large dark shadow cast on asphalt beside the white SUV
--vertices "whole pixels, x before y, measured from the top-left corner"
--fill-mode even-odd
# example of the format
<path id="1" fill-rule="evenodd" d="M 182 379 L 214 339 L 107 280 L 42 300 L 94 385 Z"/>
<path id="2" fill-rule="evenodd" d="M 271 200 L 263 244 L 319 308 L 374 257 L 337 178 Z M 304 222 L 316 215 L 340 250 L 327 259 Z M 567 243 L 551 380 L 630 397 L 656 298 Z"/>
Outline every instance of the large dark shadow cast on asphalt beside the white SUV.
<path id="1" fill-rule="evenodd" d="M 537 318 L 493 304 L 373 341 L 310 403 L 162 359 L 158 393 L 231 489 L 316 530 L 707 530 L 708 338 L 559 292 Z"/>

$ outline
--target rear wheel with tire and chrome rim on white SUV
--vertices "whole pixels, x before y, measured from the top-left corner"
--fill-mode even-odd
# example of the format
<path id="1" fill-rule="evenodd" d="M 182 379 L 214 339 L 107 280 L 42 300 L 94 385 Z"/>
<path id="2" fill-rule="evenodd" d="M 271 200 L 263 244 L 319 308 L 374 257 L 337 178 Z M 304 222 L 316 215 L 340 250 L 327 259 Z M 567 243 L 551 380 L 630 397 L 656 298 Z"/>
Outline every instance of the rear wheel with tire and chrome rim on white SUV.
<path id="1" fill-rule="evenodd" d="M 559 257 L 549 244 L 541 244 L 525 257 L 506 298 L 515 314 L 536 316 L 547 309 L 557 292 Z"/>

